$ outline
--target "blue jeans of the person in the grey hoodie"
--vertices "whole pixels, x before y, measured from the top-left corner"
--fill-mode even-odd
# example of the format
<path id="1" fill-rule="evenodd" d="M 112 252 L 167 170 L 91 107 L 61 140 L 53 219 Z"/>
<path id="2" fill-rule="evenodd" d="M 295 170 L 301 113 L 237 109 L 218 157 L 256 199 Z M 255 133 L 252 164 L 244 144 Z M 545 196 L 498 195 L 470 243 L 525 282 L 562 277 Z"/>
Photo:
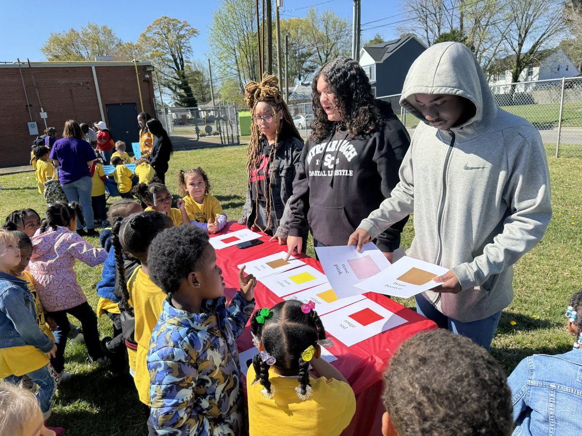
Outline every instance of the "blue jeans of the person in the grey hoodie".
<path id="1" fill-rule="evenodd" d="M 499 311 L 485 319 L 462 323 L 443 315 L 422 295 L 416 296 L 416 312 L 434 321 L 440 328 L 447 328 L 453 333 L 466 336 L 487 351 L 489 351 L 489 346 L 491 346 L 495 329 L 501 317 L 501 311 Z"/>

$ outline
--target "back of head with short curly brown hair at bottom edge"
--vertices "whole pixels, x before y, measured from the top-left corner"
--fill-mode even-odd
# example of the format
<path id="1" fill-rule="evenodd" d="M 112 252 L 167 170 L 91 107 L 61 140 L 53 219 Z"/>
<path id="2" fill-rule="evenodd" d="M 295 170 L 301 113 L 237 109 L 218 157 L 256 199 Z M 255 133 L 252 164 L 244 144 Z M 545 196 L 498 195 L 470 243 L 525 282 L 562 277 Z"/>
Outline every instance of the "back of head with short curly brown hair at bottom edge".
<path id="1" fill-rule="evenodd" d="M 501 365 L 471 339 L 439 329 L 414 335 L 384 373 L 382 434 L 509 436 L 511 391 Z"/>

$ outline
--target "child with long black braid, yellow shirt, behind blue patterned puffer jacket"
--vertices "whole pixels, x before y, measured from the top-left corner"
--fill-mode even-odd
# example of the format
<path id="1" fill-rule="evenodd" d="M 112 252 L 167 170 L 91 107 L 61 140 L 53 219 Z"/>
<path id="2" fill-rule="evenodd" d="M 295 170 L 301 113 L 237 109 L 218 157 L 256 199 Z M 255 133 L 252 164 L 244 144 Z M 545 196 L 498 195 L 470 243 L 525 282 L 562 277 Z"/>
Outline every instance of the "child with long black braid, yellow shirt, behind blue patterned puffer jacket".
<path id="1" fill-rule="evenodd" d="M 151 281 L 148 269 L 148 249 L 154 237 L 164 229 L 173 227 L 168 215 L 161 212 L 135 213 L 119 221 L 116 219 L 112 228 L 112 242 L 115 249 L 118 278 L 121 291 L 119 309 L 122 312 L 123 336 L 126 338 L 130 371 L 136 384 L 139 399 L 150 413 L 150 373 L 145 358 L 150 347 L 151 332 L 162 313 L 165 294 Z M 133 271 L 129 280 L 125 280 L 124 255 L 139 260 L 140 264 Z M 127 330 L 132 326 L 123 326 L 123 314 L 134 317 L 133 341 L 127 337 Z M 131 323 L 130 317 L 126 321 Z M 129 339 L 129 341 L 128 341 Z"/>

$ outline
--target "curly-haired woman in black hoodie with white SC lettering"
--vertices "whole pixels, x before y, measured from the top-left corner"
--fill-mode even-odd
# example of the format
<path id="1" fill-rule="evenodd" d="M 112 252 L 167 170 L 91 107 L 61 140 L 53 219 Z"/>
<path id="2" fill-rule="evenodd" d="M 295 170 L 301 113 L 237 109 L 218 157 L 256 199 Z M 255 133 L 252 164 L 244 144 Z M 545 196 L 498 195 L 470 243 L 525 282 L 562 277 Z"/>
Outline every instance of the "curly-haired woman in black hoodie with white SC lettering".
<path id="1" fill-rule="evenodd" d="M 311 88 L 315 119 L 289 201 L 289 253 L 301 251 L 307 227 L 315 246 L 345 245 L 360 221 L 390 196 L 410 144 L 390 103 L 374 99 L 355 60 L 326 63 Z M 406 220 L 378 235 L 378 248 L 398 248 Z"/>

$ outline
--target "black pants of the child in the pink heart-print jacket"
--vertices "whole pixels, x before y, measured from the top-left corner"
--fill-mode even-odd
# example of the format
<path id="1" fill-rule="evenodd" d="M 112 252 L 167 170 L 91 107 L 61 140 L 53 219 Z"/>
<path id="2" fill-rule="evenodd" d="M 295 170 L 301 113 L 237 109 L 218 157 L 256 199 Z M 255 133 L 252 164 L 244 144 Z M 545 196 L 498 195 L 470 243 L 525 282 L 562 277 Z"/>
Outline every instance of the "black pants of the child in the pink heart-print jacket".
<path id="1" fill-rule="evenodd" d="M 90 358 L 96 360 L 104 356 L 101 342 L 99 341 L 99 331 L 97 330 L 97 315 L 95 315 L 95 311 L 91 308 L 89 303 L 84 302 L 83 304 L 71 309 L 49 312 L 48 315 L 50 315 L 56 323 L 56 330 L 53 332 L 55 335 L 56 356 L 51 359 L 51 363 L 58 373 L 61 373 L 65 368 L 65 346 L 67 344 L 67 335 L 70 330 L 67 313 L 70 313 L 76 319 L 81 321 L 83 337 Z"/>

